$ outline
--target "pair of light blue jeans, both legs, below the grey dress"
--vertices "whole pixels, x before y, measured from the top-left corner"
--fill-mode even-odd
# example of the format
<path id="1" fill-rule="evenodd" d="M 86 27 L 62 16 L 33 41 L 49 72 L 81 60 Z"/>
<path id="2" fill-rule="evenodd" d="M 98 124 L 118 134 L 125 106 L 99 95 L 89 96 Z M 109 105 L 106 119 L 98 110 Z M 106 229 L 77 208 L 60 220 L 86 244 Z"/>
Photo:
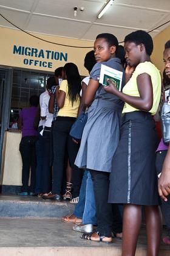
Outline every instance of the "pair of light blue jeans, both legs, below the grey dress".
<path id="1" fill-rule="evenodd" d="M 94 185 L 89 171 L 84 171 L 79 201 L 73 214 L 77 218 L 83 219 L 83 224 L 97 225 Z"/>

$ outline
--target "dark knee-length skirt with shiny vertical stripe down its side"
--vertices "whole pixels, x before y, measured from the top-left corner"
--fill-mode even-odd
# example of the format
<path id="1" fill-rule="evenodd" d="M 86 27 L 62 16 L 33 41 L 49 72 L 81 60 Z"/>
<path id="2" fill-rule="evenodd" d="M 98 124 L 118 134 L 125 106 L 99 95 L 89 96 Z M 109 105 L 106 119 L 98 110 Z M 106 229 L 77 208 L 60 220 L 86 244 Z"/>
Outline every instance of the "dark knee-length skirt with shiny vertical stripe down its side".
<path id="1" fill-rule="evenodd" d="M 155 122 L 148 112 L 126 113 L 110 174 L 109 202 L 158 205 Z"/>

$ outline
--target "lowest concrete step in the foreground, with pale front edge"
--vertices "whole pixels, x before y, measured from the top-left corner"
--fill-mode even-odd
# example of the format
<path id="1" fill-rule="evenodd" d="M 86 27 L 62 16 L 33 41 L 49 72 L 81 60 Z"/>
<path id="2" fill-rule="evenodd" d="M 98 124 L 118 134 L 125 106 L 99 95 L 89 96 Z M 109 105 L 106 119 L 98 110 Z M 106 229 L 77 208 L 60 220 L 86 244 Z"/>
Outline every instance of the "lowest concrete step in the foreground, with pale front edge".
<path id="1" fill-rule="evenodd" d="M 86 241 L 72 224 L 59 219 L 0 219 L 1 256 L 121 256 L 121 240 L 112 244 Z M 170 246 L 161 244 L 159 256 L 169 256 Z M 141 229 L 136 256 L 146 255 L 146 234 Z"/>

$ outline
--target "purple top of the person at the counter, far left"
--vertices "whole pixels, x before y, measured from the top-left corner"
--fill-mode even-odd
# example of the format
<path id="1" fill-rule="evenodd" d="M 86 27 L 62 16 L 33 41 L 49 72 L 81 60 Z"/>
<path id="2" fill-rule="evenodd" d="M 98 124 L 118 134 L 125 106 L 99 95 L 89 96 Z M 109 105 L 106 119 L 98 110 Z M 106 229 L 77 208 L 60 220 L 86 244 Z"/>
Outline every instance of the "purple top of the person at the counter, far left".
<path id="1" fill-rule="evenodd" d="M 22 137 L 38 136 L 38 132 L 33 127 L 37 111 L 37 107 L 28 107 L 21 110 L 19 117 L 22 119 Z"/>

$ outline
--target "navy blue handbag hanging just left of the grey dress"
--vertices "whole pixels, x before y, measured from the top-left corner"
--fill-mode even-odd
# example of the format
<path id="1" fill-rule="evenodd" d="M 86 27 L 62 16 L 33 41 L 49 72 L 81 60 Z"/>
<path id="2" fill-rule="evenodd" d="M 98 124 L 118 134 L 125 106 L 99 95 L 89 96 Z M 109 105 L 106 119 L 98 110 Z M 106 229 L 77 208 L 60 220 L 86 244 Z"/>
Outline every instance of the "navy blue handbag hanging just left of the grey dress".
<path id="1" fill-rule="evenodd" d="M 73 123 L 72 128 L 70 130 L 70 136 L 77 140 L 81 140 L 86 122 L 87 122 L 87 112 L 82 112 L 80 116 L 78 116 L 75 123 Z"/>

